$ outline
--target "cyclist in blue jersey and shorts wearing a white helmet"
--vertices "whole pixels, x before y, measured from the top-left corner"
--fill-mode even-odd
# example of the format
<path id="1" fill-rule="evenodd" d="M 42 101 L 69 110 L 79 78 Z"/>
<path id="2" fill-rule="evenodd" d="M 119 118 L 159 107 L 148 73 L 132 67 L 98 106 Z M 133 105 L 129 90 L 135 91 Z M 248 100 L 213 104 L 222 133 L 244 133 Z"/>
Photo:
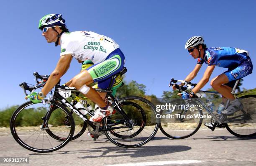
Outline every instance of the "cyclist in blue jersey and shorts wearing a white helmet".
<path id="1" fill-rule="evenodd" d="M 207 48 L 202 36 L 189 38 L 185 49 L 188 50 L 189 54 L 194 59 L 197 59 L 197 65 L 193 71 L 188 74 L 185 81 L 190 82 L 194 79 L 204 62 L 208 64 L 208 66 L 204 76 L 200 82 L 198 82 L 197 86 L 192 89 L 190 94 L 182 92 L 179 93 L 179 95 L 182 96 L 183 99 L 193 97 L 195 93 L 209 81 L 215 66 L 224 67 L 228 68 L 228 71 L 213 78 L 210 82 L 212 88 L 222 94 L 224 103 L 230 100 L 230 105 L 227 109 L 224 110 L 225 106 L 223 105 L 222 107 L 219 106 L 218 110 L 225 115 L 232 115 L 234 112 L 241 110 L 243 105 L 234 97 L 231 91 L 237 79 L 241 79 L 252 73 L 253 65 L 248 56 L 248 52 L 232 47 Z M 173 88 L 175 89 L 175 87 Z"/>

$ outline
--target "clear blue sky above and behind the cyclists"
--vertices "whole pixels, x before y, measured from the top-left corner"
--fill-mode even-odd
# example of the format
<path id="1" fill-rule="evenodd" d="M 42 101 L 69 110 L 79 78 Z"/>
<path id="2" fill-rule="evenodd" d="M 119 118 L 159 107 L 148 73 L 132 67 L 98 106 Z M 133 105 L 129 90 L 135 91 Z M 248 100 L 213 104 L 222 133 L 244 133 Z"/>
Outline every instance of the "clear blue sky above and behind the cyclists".
<path id="1" fill-rule="evenodd" d="M 47 43 L 37 28 L 39 19 L 50 13 L 61 13 L 70 31 L 93 31 L 113 38 L 125 54 L 125 80 L 145 84 L 147 94 L 157 97 L 171 90 L 172 77 L 184 79 L 197 63 L 184 49 L 192 36 L 202 35 L 209 47 L 247 50 L 256 66 L 255 0 L 2 1 L 0 109 L 25 102 L 18 84 L 33 84 L 33 72 L 50 74 L 55 68 L 60 46 Z M 201 79 L 206 67 L 193 82 Z M 73 59 L 61 82 L 80 68 Z M 211 78 L 225 70 L 216 67 Z M 243 87 L 255 88 L 255 77 L 253 71 L 244 78 Z M 208 83 L 203 89 L 209 87 Z"/>

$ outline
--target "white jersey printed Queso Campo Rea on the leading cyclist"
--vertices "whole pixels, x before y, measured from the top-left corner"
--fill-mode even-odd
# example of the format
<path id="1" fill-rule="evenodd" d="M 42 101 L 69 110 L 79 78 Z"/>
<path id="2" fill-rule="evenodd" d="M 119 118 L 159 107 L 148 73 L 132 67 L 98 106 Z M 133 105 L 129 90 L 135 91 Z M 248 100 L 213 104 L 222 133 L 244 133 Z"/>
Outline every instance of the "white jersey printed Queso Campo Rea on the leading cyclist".
<path id="1" fill-rule="evenodd" d="M 90 31 L 67 32 L 61 35 L 60 55 L 72 54 L 80 61 L 100 63 L 117 48 L 119 45 L 111 38 Z"/>

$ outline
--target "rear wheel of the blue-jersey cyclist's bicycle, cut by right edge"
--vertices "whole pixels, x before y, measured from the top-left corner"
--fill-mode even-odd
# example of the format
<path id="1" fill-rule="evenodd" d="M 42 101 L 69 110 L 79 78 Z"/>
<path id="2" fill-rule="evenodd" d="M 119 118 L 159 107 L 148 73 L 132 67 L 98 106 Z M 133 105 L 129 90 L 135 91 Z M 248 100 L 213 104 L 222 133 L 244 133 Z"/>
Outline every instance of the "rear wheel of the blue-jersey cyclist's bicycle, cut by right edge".
<path id="1" fill-rule="evenodd" d="M 246 95 L 238 98 L 243 104 L 243 111 L 239 110 L 233 115 L 228 116 L 228 119 L 232 117 L 236 121 L 226 123 L 227 130 L 238 137 L 253 137 L 256 135 L 256 95 Z M 238 119 L 240 119 L 238 121 Z"/>

